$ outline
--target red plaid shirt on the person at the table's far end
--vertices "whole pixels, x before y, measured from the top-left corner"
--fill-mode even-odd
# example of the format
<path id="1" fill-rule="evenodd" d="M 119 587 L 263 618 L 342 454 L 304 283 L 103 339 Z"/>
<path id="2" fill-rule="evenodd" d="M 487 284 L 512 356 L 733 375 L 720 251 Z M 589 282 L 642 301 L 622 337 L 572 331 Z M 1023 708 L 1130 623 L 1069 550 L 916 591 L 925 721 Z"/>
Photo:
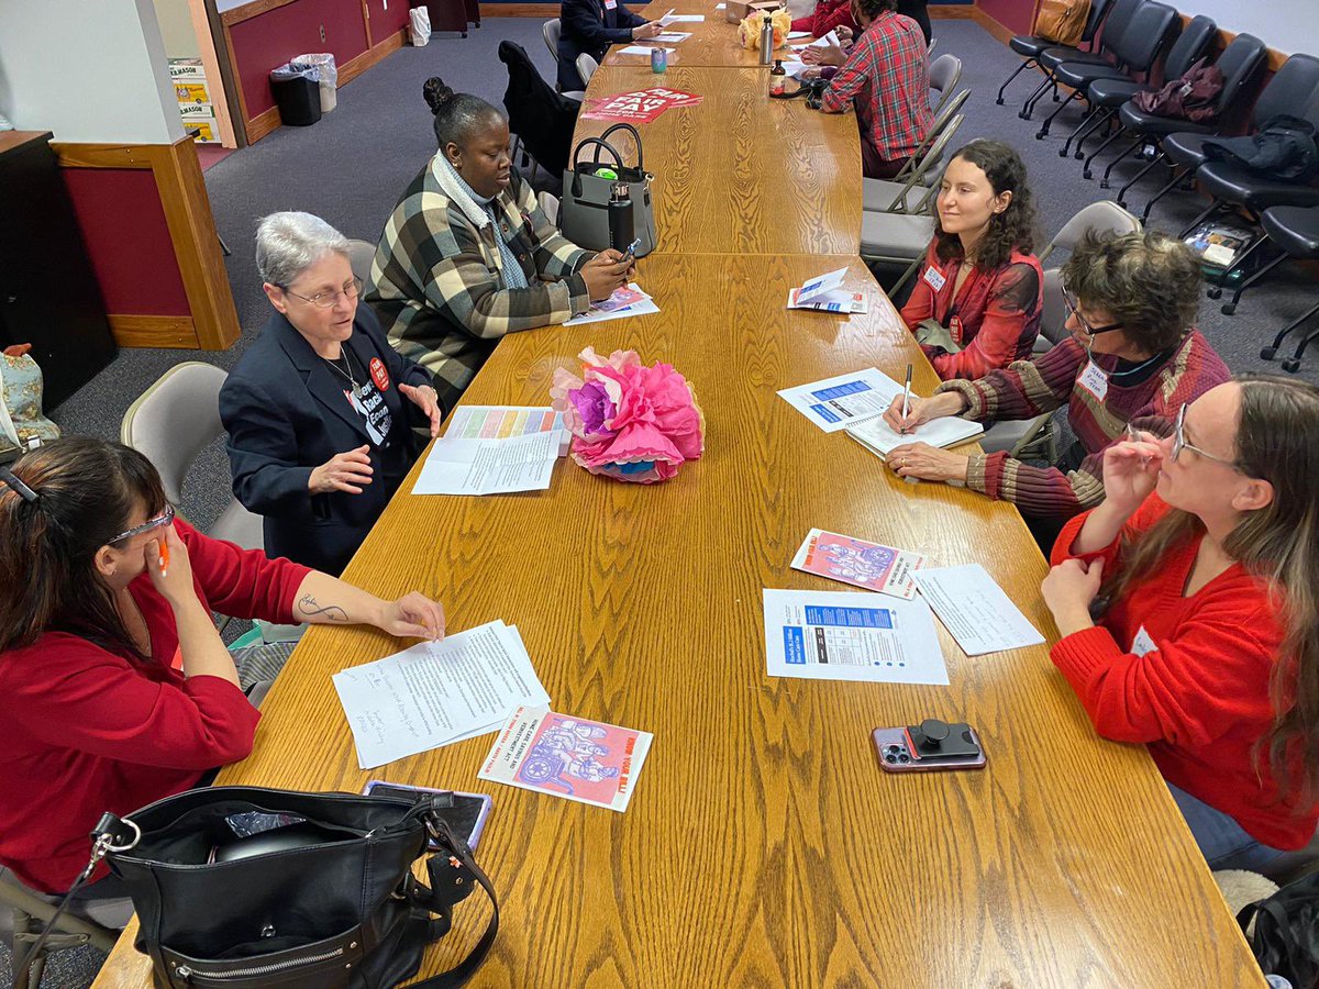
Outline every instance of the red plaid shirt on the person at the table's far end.
<path id="1" fill-rule="evenodd" d="M 853 96 L 880 157 L 911 157 L 934 124 L 925 36 L 915 21 L 892 11 L 871 21 L 824 90 L 824 109 L 843 111 Z"/>

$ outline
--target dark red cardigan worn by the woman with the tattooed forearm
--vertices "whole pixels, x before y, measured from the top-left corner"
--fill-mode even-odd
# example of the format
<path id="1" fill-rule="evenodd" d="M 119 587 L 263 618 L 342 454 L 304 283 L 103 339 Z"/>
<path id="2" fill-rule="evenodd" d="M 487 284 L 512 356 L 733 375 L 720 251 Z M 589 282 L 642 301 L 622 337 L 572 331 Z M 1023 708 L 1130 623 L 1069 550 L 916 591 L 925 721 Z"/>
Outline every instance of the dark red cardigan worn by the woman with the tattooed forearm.
<path id="1" fill-rule="evenodd" d="M 293 621 L 307 567 L 174 526 L 204 607 Z M 65 632 L 0 654 L 0 862 L 46 893 L 66 890 L 87 865 L 87 833 L 103 812 L 187 790 L 252 750 L 257 709 L 228 680 L 170 669 L 178 629 L 169 603 L 145 572 L 128 589 L 150 632 L 150 662 Z"/>

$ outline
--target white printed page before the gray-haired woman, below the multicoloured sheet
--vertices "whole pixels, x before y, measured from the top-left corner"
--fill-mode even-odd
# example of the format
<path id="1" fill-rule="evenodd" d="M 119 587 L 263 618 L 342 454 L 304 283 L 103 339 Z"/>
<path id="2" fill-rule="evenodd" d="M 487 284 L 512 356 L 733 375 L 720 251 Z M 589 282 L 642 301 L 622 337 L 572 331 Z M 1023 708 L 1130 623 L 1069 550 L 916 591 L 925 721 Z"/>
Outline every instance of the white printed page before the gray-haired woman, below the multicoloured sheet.
<path id="1" fill-rule="evenodd" d="M 545 491 L 559 458 L 561 431 L 508 439 L 441 436 L 426 455 L 413 494 L 506 494 Z"/>

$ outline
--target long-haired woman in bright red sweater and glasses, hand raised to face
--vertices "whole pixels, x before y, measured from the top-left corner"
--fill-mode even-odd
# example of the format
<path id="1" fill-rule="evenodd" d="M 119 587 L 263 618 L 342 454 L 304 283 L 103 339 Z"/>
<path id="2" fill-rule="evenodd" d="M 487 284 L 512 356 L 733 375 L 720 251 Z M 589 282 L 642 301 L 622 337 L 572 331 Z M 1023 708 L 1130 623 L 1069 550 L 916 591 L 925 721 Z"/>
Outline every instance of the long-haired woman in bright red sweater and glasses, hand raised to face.
<path id="1" fill-rule="evenodd" d="M 1054 663 L 1100 734 L 1149 745 L 1212 869 L 1258 869 L 1319 822 L 1316 435 L 1312 385 L 1213 388 L 1167 439 L 1108 450 L 1107 497 L 1041 588 Z"/>

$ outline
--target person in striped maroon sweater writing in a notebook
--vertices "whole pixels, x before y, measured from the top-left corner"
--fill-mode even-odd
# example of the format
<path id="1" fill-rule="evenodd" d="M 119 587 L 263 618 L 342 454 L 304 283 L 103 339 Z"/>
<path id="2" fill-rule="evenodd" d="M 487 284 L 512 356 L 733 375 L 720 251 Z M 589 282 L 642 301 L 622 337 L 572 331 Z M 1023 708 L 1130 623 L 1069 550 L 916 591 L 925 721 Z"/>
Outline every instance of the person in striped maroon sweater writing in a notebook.
<path id="1" fill-rule="evenodd" d="M 901 400 L 885 421 L 905 433 L 940 415 L 983 422 L 1049 414 L 1010 454 L 966 455 L 913 442 L 889 467 L 904 477 L 966 484 L 1021 509 L 1042 543 L 1104 497 L 1104 450 L 1128 423 L 1167 435 L 1177 410 L 1229 377 L 1208 340 L 1191 328 L 1200 269 L 1163 233 L 1087 237 L 1063 266 L 1071 336 L 1047 353 L 944 381 L 926 400 Z"/>

